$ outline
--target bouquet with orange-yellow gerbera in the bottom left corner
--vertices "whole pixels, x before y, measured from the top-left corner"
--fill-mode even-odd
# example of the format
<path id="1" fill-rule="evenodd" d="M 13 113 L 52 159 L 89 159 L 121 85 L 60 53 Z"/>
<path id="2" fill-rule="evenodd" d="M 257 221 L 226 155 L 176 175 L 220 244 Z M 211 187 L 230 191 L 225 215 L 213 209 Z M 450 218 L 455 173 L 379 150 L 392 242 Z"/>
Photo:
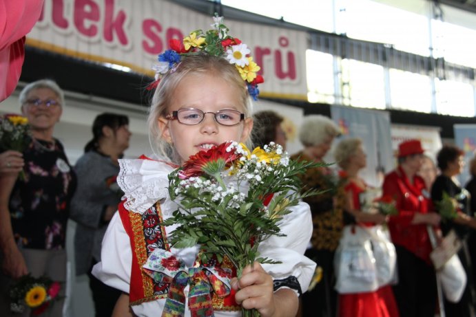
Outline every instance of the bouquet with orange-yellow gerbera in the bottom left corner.
<path id="1" fill-rule="evenodd" d="M 34 278 L 30 274 L 23 275 L 10 287 L 10 310 L 22 313 L 30 307 L 33 315 L 42 314 L 58 296 L 60 289 L 61 285 L 47 276 Z"/>

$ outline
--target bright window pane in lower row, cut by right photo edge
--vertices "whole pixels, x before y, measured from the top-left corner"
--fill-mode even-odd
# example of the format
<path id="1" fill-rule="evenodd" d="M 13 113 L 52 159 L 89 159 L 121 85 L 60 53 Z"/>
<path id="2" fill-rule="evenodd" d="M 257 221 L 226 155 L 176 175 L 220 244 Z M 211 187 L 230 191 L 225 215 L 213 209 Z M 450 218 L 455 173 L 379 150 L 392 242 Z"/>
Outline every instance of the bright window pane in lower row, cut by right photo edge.
<path id="1" fill-rule="evenodd" d="M 475 116 L 473 86 L 451 80 L 435 80 L 435 87 L 437 113 L 462 117 Z"/>

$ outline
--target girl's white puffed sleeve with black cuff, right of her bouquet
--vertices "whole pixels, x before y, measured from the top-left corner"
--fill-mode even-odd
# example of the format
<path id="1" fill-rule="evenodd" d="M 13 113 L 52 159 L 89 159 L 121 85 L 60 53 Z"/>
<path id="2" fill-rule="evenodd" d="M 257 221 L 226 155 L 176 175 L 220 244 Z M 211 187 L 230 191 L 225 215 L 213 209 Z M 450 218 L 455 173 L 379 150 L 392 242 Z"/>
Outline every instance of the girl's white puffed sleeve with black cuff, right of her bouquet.
<path id="1" fill-rule="evenodd" d="M 315 270 L 315 262 L 304 256 L 313 230 L 309 205 L 301 201 L 291 208 L 280 223 L 284 237 L 272 236 L 262 241 L 260 256 L 280 261 L 279 264 L 263 264 L 273 276 L 274 287 L 289 287 L 298 294 L 307 291 Z"/>

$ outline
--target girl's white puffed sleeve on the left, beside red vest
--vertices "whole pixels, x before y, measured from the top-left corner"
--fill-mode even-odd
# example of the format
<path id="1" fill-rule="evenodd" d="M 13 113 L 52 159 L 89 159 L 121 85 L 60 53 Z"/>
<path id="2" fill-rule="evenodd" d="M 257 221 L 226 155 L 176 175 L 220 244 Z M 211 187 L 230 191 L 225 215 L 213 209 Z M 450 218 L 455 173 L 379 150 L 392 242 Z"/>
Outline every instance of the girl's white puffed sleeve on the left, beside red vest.
<path id="1" fill-rule="evenodd" d="M 132 249 L 119 212 L 114 214 L 107 227 L 101 248 L 101 260 L 92 268 L 92 274 L 106 285 L 129 293 Z"/>

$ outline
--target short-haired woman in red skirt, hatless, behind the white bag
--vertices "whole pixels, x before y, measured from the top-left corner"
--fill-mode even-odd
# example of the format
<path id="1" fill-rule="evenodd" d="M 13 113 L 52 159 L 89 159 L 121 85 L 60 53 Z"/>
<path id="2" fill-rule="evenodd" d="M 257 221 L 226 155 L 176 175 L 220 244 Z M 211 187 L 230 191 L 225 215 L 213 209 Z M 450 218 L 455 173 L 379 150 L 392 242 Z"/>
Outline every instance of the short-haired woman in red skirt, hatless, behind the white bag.
<path id="1" fill-rule="evenodd" d="M 359 171 L 366 166 L 366 153 L 359 138 L 346 138 L 335 147 L 334 157 L 342 168 L 341 177 L 346 193 L 346 212 L 355 221 L 345 220 L 344 224 L 358 223 L 360 226 L 371 227 L 385 223 L 386 216 L 373 210 L 364 210 L 366 192 L 369 186 L 359 176 Z M 375 197 L 376 198 L 376 197 Z M 395 298 L 389 285 L 384 285 L 374 292 L 358 294 L 340 294 L 338 300 L 338 316 L 340 317 L 397 317 L 399 316 Z"/>

